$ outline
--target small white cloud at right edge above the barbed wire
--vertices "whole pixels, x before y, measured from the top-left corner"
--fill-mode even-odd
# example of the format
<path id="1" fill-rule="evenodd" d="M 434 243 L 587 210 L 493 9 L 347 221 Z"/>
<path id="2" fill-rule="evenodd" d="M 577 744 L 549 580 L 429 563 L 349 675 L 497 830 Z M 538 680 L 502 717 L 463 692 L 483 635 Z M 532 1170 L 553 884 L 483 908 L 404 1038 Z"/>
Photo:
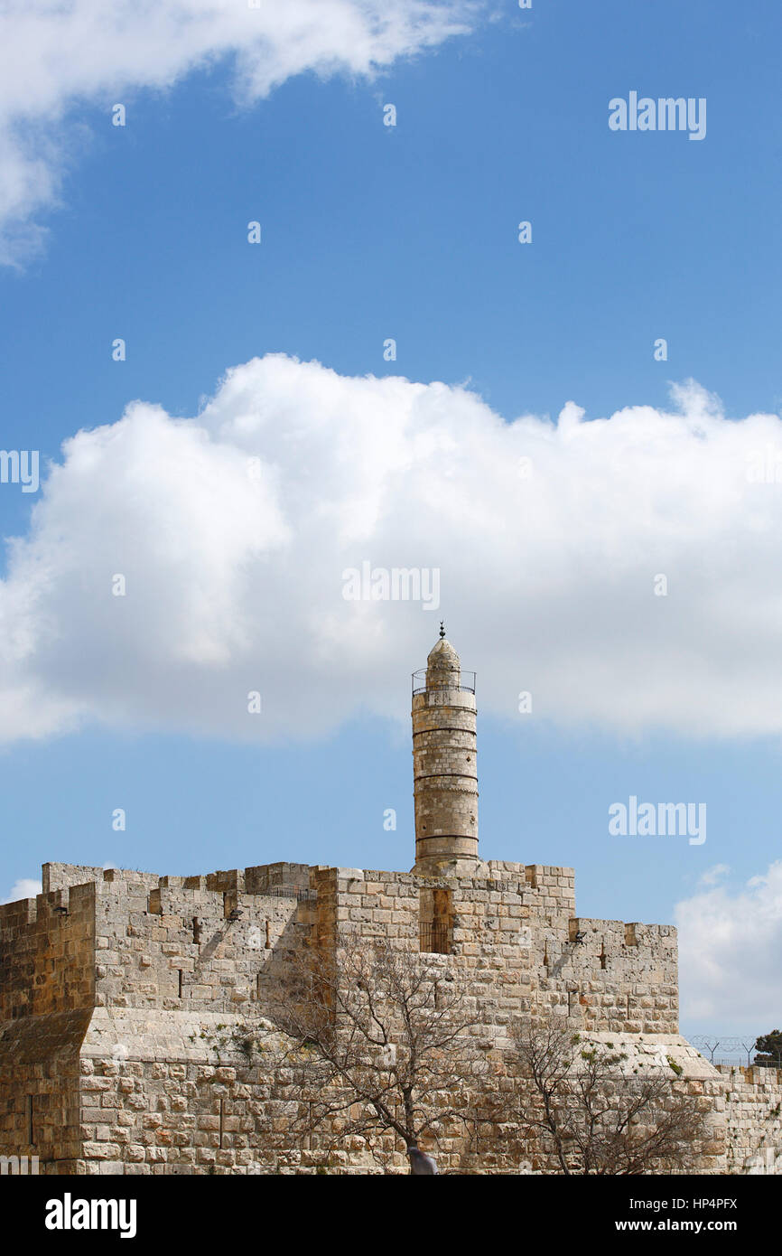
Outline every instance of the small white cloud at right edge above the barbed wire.
<path id="1" fill-rule="evenodd" d="M 767 1034 L 782 1006 L 782 859 L 737 892 L 677 904 L 682 1016 L 722 1032 Z"/>

